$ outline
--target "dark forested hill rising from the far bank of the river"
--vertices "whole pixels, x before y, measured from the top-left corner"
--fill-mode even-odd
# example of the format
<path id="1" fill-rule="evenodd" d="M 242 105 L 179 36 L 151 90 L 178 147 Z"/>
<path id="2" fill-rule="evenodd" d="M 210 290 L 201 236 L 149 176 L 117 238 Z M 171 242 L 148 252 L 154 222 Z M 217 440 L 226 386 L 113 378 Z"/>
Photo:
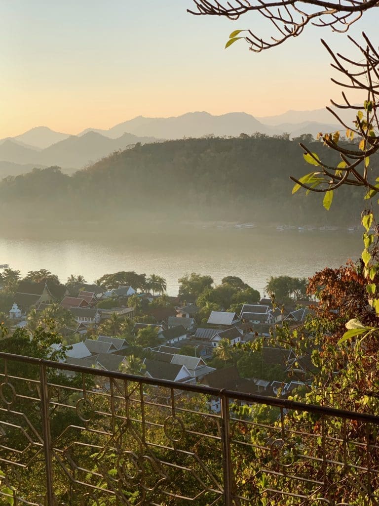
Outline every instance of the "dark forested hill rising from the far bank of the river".
<path id="1" fill-rule="evenodd" d="M 328 161 L 333 151 L 308 147 Z M 338 161 L 337 161 L 338 163 Z M 2 216 L 13 220 L 215 220 L 356 223 L 362 191 L 341 189 L 329 212 L 322 196 L 291 195 L 290 175 L 311 172 L 297 141 L 261 134 L 135 145 L 72 176 L 58 167 L 4 179 Z"/>

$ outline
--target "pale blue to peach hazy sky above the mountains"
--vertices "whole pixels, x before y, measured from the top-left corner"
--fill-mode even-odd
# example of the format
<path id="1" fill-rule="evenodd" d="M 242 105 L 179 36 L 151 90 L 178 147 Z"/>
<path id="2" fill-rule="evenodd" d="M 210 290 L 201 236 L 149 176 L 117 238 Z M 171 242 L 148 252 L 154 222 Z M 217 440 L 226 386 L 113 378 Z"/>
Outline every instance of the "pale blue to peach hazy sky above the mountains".
<path id="1" fill-rule="evenodd" d="M 206 110 L 256 116 L 324 107 L 322 36 L 349 54 L 346 35 L 308 29 L 255 54 L 229 33 L 261 25 L 186 13 L 191 0 L 1 0 L 0 137 L 37 125 L 76 134 L 137 115 Z M 376 16 L 376 13 L 375 13 Z M 377 32 L 368 15 L 352 33 Z M 376 17 L 377 19 L 377 17 Z"/>

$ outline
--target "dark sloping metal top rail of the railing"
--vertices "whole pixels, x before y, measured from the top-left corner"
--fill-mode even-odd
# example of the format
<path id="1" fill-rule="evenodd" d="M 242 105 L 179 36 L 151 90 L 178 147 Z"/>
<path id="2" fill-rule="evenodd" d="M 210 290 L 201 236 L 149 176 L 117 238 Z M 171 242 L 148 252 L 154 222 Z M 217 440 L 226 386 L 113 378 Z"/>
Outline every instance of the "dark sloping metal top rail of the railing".
<path id="1" fill-rule="evenodd" d="M 35 357 L 25 357 L 23 355 L 16 355 L 13 353 L 0 352 L 0 359 L 14 360 L 17 362 L 26 362 L 29 364 L 43 365 L 44 367 L 51 367 L 54 369 L 67 370 L 72 372 L 79 372 L 82 374 L 91 374 L 94 376 L 103 376 L 112 379 L 128 379 L 129 381 L 141 383 L 144 385 L 153 385 L 159 387 L 173 388 L 187 392 L 194 392 L 205 395 L 212 395 L 215 397 L 226 397 L 228 399 L 235 399 L 249 403 L 267 404 L 269 406 L 279 407 L 283 409 L 307 411 L 320 415 L 336 416 L 340 418 L 353 419 L 361 422 L 369 422 L 379 425 L 379 416 L 368 413 L 357 413 L 355 411 L 347 411 L 336 408 L 317 406 L 315 404 L 306 404 L 303 402 L 290 401 L 288 399 L 278 399 L 276 397 L 268 397 L 264 395 L 248 394 L 242 392 L 235 392 L 233 390 L 217 389 L 207 387 L 205 385 L 188 385 L 186 383 L 177 383 L 167 379 L 155 379 L 145 376 L 137 376 L 124 372 L 107 371 L 103 369 L 94 369 L 92 367 L 84 367 L 81 365 L 65 364 L 56 362 L 54 360 L 39 359 Z"/>

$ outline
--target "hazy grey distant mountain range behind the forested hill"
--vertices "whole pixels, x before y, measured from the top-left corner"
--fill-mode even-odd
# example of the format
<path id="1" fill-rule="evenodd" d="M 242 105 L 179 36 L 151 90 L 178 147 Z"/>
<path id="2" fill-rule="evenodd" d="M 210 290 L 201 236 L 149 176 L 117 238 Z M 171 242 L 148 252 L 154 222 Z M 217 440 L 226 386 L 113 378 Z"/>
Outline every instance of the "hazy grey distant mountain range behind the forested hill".
<path id="1" fill-rule="evenodd" d="M 343 118 L 348 121 L 347 118 Z M 0 140 L 0 177 L 19 174 L 23 166 L 58 165 L 64 172 L 95 162 L 113 151 L 136 143 L 146 144 L 207 135 L 238 137 L 260 132 L 269 136 L 288 132 L 291 138 L 302 134 L 341 129 L 324 109 L 288 111 L 277 116 L 256 118 L 245 112 L 215 116 L 208 112 L 188 112 L 168 118 L 137 116 L 108 130 L 85 129 L 78 135 L 55 132 L 37 126 L 24 134 Z M 350 121 L 351 122 L 351 121 Z M 349 123 L 350 123 L 349 122 Z"/>

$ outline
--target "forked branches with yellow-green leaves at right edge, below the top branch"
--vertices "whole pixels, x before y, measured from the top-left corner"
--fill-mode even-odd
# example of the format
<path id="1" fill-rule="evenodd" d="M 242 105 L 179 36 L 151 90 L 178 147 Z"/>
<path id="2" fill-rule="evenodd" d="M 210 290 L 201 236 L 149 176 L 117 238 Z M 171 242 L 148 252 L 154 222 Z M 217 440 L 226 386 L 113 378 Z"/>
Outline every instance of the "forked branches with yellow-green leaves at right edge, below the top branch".
<path id="1" fill-rule="evenodd" d="M 343 75 L 343 79 L 331 79 L 337 85 L 345 89 L 354 89 L 365 93 L 363 107 L 353 105 L 342 92 L 343 103 L 331 103 L 337 109 L 349 109 L 354 113 L 355 119 L 352 125 L 347 125 L 330 107 L 326 109 L 333 114 L 341 125 L 346 128 L 346 138 L 340 136 L 340 132 L 319 133 L 324 145 L 333 149 L 341 159 L 337 166 L 330 166 L 322 162 L 317 153 L 311 152 L 304 144 L 300 146 L 304 150 L 304 159 L 307 163 L 317 166 L 313 171 L 300 179 L 291 177 L 296 183 L 292 193 L 296 193 L 301 187 L 309 192 L 325 193 L 323 205 L 329 209 L 333 200 L 333 192 L 342 185 L 363 186 L 367 189 L 365 199 L 370 199 L 379 191 L 379 178 L 374 179 L 370 157 L 379 149 L 379 121 L 377 104 L 379 102 L 379 53 L 372 46 L 368 37 L 363 33 L 365 47 L 357 43 L 352 37 L 349 39 L 359 49 L 362 59 L 352 60 L 340 54 L 334 53 L 322 40 L 333 59 L 331 66 Z M 354 142 L 357 139 L 357 142 Z"/>

